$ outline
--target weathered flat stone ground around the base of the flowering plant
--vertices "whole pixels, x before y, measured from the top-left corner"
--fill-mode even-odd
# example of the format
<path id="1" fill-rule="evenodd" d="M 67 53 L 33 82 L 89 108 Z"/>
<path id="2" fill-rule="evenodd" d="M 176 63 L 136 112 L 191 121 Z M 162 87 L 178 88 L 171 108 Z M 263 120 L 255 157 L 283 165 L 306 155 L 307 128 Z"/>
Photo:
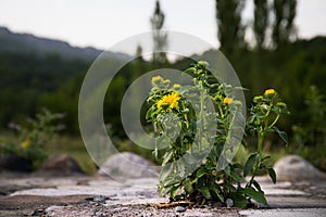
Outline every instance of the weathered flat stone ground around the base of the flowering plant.
<path id="1" fill-rule="evenodd" d="M 162 208 L 154 178 L 116 181 L 99 176 L 0 175 L 0 216 L 326 216 L 326 179 L 273 184 L 259 177 L 269 206 Z"/>

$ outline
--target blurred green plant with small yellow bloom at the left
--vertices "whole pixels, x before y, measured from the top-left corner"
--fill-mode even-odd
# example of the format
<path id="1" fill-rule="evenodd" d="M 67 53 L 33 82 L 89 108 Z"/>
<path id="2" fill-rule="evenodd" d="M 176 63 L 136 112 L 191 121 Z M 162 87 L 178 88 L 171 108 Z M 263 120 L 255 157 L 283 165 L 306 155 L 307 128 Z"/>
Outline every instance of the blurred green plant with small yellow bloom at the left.
<path id="1" fill-rule="evenodd" d="M 3 142 L 0 145 L 0 154 L 14 154 L 32 163 L 33 168 L 37 168 L 46 158 L 45 145 L 49 143 L 60 130 L 61 125 L 57 120 L 62 118 L 63 114 L 52 114 L 48 110 L 36 114 L 36 118 L 28 118 L 22 126 L 16 126 L 18 140 L 21 142 L 11 144 Z"/>

